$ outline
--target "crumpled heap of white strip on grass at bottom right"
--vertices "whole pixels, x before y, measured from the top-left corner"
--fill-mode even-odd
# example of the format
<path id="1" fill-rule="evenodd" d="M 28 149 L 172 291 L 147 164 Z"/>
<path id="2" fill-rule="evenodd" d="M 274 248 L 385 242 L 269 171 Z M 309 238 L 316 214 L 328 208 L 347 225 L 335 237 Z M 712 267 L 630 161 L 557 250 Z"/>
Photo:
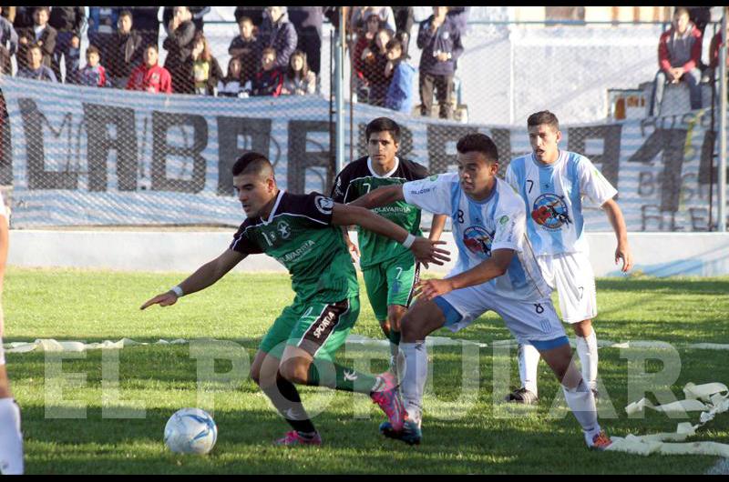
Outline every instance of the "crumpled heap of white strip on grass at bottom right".
<path id="1" fill-rule="evenodd" d="M 625 407 L 628 415 L 642 413 L 651 408 L 665 414 L 701 411 L 699 423 L 692 425 L 689 422 L 678 424 L 675 433 L 650 434 L 641 437 L 628 435 L 627 437 L 611 437 L 612 445 L 608 450 L 627 452 L 647 456 L 650 454 L 662 455 L 703 455 L 729 458 L 729 444 L 717 442 L 685 442 L 688 437 L 696 435 L 696 430 L 703 427 L 719 414 L 729 411 L 729 388 L 721 383 L 707 383 L 704 385 L 686 384 L 683 387 L 686 396 L 684 400 L 671 404 L 654 406 L 650 400 L 642 398 L 638 402 Z M 669 443 L 682 442 L 682 443 Z"/>

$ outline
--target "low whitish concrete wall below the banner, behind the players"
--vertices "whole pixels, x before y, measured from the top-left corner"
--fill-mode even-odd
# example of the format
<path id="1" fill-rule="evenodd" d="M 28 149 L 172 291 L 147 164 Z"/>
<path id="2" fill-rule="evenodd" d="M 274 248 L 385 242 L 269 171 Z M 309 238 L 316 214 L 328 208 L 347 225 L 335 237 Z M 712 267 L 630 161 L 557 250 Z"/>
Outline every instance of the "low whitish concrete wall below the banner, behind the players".
<path id="1" fill-rule="evenodd" d="M 230 245 L 234 230 L 216 232 L 11 230 L 9 266 L 72 267 L 118 271 L 192 272 Z M 352 238 L 356 235 L 352 233 Z M 456 254 L 451 233 L 444 233 Z M 635 270 L 652 276 L 729 275 L 729 235 L 719 233 L 632 233 Z M 613 264 L 615 236 L 590 233 L 596 276 L 621 276 Z M 454 256 L 455 260 L 455 256 Z M 431 266 L 435 273 L 453 266 Z M 240 272 L 283 272 L 269 256 L 254 255 Z"/>

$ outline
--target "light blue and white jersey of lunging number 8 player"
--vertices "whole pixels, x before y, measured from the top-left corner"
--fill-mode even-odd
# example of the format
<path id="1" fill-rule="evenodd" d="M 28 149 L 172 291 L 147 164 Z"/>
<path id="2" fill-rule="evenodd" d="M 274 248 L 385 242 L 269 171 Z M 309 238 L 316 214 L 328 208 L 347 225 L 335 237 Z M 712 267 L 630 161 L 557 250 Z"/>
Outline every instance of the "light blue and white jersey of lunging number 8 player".
<path id="1" fill-rule="evenodd" d="M 549 296 L 551 288 L 541 276 L 526 237 L 524 201 L 507 183 L 497 179 L 491 195 L 483 201 L 466 196 L 457 174 L 405 183 L 403 193 L 408 204 L 436 215 L 451 216 L 458 260 L 448 277 L 480 265 L 495 249 L 513 249 L 515 256 L 507 272 L 482 286 L 510 299 L 530 301 Z"/>

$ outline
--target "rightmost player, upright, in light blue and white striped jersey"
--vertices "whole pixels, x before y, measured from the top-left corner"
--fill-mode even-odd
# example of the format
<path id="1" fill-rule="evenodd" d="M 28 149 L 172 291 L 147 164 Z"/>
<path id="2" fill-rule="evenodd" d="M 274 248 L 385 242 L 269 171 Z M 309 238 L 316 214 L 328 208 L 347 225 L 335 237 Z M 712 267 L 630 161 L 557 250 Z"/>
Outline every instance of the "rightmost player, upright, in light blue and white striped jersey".
<path id="1" fill-rule="evenodd" d="M 562 319 L 577 335 L 582 376 L 597 395 L 598 345 L 592 329 L 597 316 L 595 276 L 588 257 L 582 201 L 585 196 L 605 210 L 618 247 L 615 262 L 622 271 L 631 269 L 631 250 L 621 208 L 612 199 L 618 192 L 592 165 L 590 159 L 560 150 L 560 126 L 549 111 L 530 115 L 527 121 L 533 152 L 511 161 L 506 180 L 527 203 L 527 233 L 542 274 L 560 294 Z M 515 403 L 538 400 L 534 346 L 519 345 L 519 377 L 522 386 L 508 395 Z"/>

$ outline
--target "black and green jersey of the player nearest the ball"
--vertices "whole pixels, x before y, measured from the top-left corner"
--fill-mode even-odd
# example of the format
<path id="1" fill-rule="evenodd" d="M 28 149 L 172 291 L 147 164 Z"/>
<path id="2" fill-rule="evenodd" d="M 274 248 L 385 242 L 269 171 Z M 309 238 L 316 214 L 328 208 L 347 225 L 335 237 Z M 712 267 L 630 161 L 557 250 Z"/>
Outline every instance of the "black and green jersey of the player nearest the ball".
<path id="1" fill-rule="evenodd" d="M 319 193 L 279 192 L 267 219 L 246 219 L 231 249 L 242 254 L 265 253 L 291 274 L 292 288 L 303 299 L 323 296 L 339 301 L 359 293 L 342 231 L 332 225 L 334 201 Z"/>

